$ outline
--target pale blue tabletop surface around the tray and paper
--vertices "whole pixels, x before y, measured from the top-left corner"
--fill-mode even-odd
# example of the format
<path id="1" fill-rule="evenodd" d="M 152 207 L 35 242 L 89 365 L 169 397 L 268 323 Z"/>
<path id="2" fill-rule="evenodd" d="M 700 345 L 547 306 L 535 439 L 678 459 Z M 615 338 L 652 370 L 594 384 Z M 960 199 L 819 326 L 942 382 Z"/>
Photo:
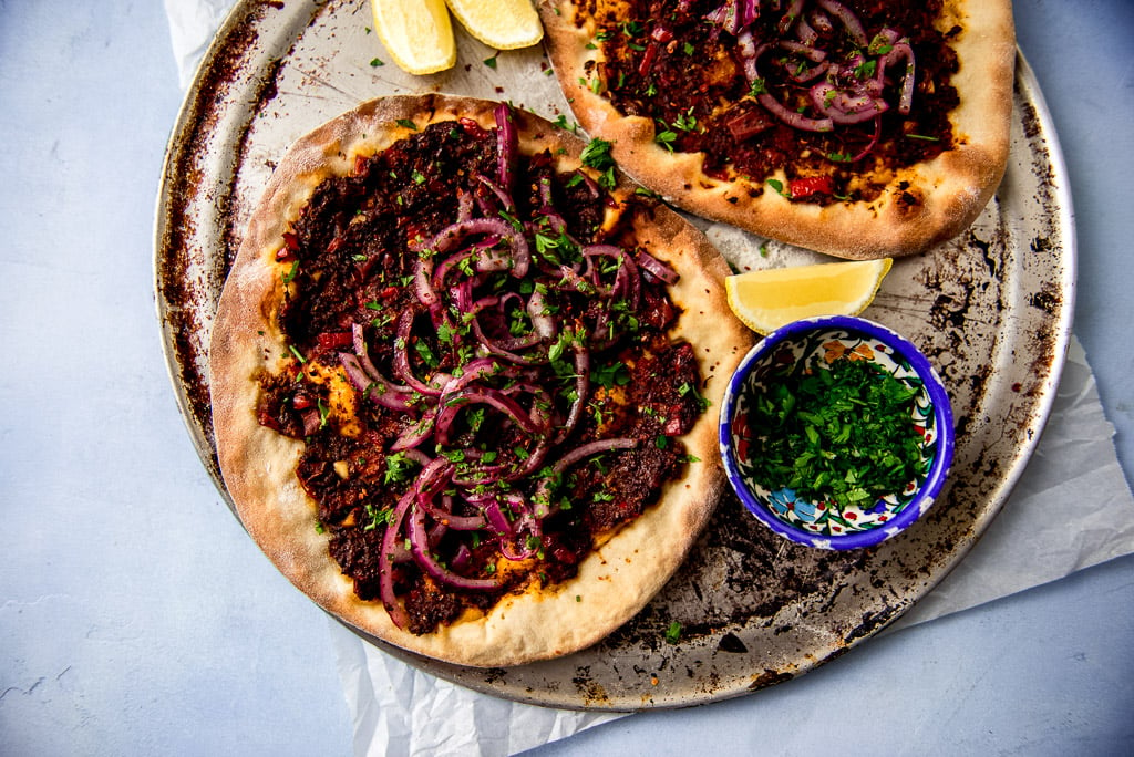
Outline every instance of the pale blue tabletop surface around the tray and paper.
<path id="1" fill-rule="evenodd" d="M 1129 478 L 1134 3 L 1016 16 L 1075 198 L 1075 332 Z M 180 100 L 155 0 L 0 2 L 3 755 L 350 751 L 328 620 L 228 514 L 166 373 L 152 224 Z M 1131 754 L 1132 607 L 1123 558 L 538 751 Z"/>

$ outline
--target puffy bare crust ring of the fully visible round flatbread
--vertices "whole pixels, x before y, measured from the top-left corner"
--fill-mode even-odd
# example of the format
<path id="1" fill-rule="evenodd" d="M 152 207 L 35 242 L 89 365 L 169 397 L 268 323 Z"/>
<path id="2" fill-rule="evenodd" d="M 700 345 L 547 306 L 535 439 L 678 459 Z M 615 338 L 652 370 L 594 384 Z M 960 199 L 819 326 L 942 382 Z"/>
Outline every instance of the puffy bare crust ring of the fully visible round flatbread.
<path id="1" fill-rule="evenodd" d="M 354 594 L 316 531 L 315 503 L 295 475 L 303 451 L 256 422 L 257 376 L 286 360 L 276 314 L 282 283 L 274 267 L 281 235 L 324 178 L 345 175 L 356 155 L 369 155 L 406 136 L 396 120 L 418 128 L 438 120 L 474 118 L 494 126 L 496 103 L 443 95 L 371 101 L 299 139 L 281 160 L 248 223 L 226 282 L 211 345 L 213 426 L 225 484 L 239 517 L 279 570 L 327 611 L 350 626 L 412 652 L 474 666 L 506 666 L 568 654 L 590 646 L 637 613 L 679 568 L 725 486 L 717 420 L 725 385 L 752 334 L 731 315 L 722 291 L 723 258 L 699 231 L 660 207 L 640 238 L 680 274 L 671 290 L 684 309 L 676 331 L 696 348 L 708 384 L 708 412 L 683 440 L 699 462 L 670 482 L 661 501 L 592 552 L 578 576 L 539 592 L 507 596 L 485 615 L 462 619 L 437 632 L 414 636 L 391 622 L 380 602 Z M 549 122 L 516 112 L 521 148 L 562 147 L 578 165 L 582 141 Z M 625 182 L 620 190 L 628 192 Z"/>

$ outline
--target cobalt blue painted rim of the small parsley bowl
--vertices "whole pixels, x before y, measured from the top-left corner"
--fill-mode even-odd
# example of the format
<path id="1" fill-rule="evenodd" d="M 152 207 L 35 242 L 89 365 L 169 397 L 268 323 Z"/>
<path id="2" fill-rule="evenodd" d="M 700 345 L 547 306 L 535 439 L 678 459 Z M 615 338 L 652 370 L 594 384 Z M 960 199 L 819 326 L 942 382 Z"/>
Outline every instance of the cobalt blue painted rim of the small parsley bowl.
<path id="1" fill-rule="evenodd" d="M 885 526 L 850 534 L 826 535 L 814 534 L 802 528 L 785 522 L 769 510 L 744 484 L 739 466 L 736 459 L 736 449 L 733 444 L 733 415 L 736 411 L 737 401 L 742 388 L 752 372 L 754 365 L 760 363 L 764 356 L 786 341 L 795 340 L 799 334 L 813 331 L 850 331 L 865 335 L 871 340 L 880 341 L 890 347 L 894 352 L 900 356 L 909 367 L 922 380 L 930 402 L 933 407 L 933 417 L 938 428 L 938 451 L 925 476 L 925 482 L 916 496 L 911 500 L 905 508 Z M 892 329 L 880 323 L 869 321 L 857 316 L 822 316 L 793 321 L 772 331 L 758 342 L 747 355 L 741 360 L 741 365 L 729 378 L 725 389 L 725 402 L 720 412 L 719 442 L 721 459 L 725 463 L 725 473 L 729 484 L 741 497 L 745 509 L 754 514 L 762 524 L 773 531 L 793 542 L 806 544 L 809 546 L 824 550 L 857 550 L 879 544 L 891 536 L 896 536 L 905 530 L 911 524 L 916 521 L 933 504 L 940 493 L 945 480 L 948 477 L 949 467 L 953 463 L 953 450 L 955 442 L 955 429 L 953 427 L 953 408 L 949 394 L 941 382 L 941 377 L 930 364 L 929 359 L 922 355 L 913 342 L 902 337 Z"/>

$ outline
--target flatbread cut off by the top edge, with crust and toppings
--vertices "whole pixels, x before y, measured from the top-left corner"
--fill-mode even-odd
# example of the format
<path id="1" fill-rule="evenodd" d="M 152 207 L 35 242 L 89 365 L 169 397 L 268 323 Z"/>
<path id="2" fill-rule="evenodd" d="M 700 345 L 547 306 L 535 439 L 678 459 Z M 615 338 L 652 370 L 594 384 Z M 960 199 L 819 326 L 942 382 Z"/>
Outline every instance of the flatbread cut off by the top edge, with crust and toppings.
<path id="1" fill-rule="evenodd" d="M 967 228 L 1008 155 L 1009 0 L 542 0 L 586 131 L 668 202 L 847 258 Z"/>

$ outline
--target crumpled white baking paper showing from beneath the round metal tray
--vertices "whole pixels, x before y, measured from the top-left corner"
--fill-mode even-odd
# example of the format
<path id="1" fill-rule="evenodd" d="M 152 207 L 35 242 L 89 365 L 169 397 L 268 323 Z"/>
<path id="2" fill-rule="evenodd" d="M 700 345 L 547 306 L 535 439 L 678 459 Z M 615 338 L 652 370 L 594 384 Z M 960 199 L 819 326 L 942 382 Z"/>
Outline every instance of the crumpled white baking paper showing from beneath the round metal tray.
<path id="1" fill-rule="evenodd" d="M 232 2 L 164 0 L 183 88 Z M 1134 552 L 1134 496 L 1112 436 L 1086 356 L 1073 339 L 1047 429 L 1008 502 L 960 564 L 887 632 Z M 1084 491 L 1097 496 L 1084 500 Z M 632 716 L 476 694 L 390 657 L 333 619 L 329 627 L 359 756 L 510 755 Z"/>

